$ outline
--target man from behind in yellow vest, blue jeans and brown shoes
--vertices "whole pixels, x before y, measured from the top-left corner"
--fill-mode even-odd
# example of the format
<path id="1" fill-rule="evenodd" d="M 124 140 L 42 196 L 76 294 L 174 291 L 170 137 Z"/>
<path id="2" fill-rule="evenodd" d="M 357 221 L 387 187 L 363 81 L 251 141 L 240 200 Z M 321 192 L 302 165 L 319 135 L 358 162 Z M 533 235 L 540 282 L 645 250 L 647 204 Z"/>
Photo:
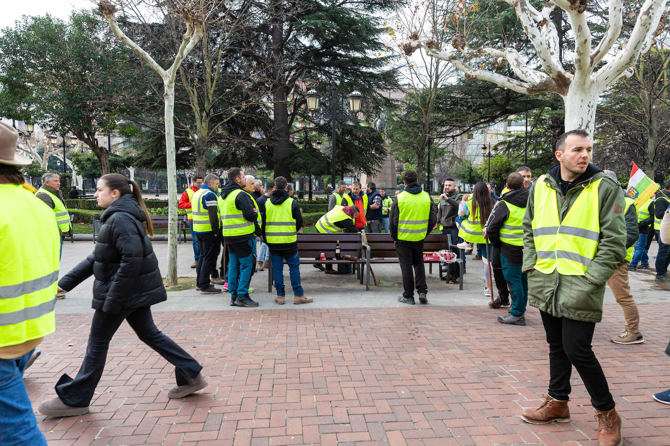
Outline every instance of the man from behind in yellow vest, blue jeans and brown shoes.
<path id="1" fill-rule="evenodd" d="M 297 254 L 297 232 L 302 228 L 302 213 L 297 201 L 289 197 L 287 181 L 275 178 L 275 190 L 265 201 L 262 214 L 261 235 L 270 249 L 272 277 L 275 282 L 277 304 L 284 304 L 284 260 L 289 265 L 293 304 L 309 304 L 314 299 L 305 296 L 300 284 L 300 257 Z"/>

